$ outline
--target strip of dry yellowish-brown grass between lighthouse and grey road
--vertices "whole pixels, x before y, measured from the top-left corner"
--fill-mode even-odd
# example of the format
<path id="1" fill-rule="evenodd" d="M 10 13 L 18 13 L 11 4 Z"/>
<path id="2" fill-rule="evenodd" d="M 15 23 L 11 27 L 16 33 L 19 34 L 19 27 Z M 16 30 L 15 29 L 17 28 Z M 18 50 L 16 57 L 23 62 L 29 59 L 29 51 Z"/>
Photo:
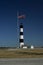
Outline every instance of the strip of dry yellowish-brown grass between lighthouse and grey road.
<path id="1" fill-rule="evenodd" d="M 0 58 L 43 58 L 43 49 L 0 49 Z"/>

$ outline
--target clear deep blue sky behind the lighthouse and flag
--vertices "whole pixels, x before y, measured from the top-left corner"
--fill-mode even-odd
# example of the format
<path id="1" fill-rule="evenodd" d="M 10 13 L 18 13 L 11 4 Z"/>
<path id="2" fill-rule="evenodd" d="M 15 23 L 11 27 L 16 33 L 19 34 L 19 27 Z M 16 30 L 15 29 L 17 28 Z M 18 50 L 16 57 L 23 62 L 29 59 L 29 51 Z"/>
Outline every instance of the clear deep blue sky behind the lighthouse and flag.
<path id="1" fill-rule="evenodd" d="M 0 0 L 0 46 L 16 46 L 17 11 L 26 15 L 24 42 L 43 46 L 43 0 Z"/>

